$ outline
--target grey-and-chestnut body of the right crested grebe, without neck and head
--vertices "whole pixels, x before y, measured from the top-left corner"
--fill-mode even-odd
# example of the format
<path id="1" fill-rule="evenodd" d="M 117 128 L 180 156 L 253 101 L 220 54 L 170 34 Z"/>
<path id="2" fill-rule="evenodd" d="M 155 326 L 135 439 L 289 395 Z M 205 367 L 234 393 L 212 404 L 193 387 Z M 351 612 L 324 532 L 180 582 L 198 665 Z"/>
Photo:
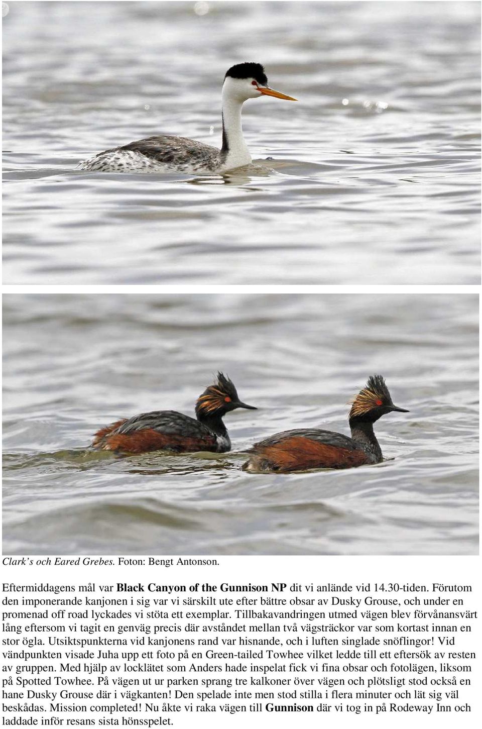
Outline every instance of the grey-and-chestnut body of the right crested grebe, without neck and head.
<path id="1" fill-rule="evenodd" d="M 366 463 L 365 453 L 351 438 L 329 430 L 286 430 L 255 443 L 248 453 L 243 469 L 279 473 Z"/>

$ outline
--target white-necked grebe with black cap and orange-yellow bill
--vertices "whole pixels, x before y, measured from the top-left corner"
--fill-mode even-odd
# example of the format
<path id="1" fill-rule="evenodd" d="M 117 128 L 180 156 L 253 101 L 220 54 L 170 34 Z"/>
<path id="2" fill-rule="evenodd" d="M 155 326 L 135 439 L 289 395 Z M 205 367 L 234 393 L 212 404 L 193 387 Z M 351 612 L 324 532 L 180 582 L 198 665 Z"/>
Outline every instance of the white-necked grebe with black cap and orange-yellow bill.
<path id="1" fill-rule="evenodd" d="M 178 136 L 151 136 L 133 141 L 123 147 L 106 149 L 79 163 L 81 170 L 100 172 L 162 172 L 188 173 L 225 172 L 249 165 L 251 155 L 241 127 L 241 107 L 248 98 L 286 96 L 269 88 L 261 63 L 237 63 L 226 72 L 222 91 L 223 144 L 221 149 L 194 139 Z"/>

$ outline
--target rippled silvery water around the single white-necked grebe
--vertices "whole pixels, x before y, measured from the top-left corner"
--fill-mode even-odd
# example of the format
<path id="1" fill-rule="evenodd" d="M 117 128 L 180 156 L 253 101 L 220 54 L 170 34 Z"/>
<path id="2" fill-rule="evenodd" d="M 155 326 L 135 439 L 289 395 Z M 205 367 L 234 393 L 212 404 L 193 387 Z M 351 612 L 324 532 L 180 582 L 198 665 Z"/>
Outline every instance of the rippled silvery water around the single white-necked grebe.
<path id="1" fill-rule="evenodd" d="M 478 284 L 477 2 L 10 2 L 4 282 Z M 154 133 L 220 144 L 221 82 L 264 171 L 74 171 Z"/>

